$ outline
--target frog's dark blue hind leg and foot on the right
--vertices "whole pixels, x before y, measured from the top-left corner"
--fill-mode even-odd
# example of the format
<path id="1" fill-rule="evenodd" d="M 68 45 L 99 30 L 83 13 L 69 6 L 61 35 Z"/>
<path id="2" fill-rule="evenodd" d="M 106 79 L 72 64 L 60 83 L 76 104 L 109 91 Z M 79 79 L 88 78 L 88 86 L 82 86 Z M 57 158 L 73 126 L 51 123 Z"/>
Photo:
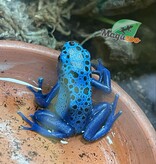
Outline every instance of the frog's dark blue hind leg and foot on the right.
<path id="1" fill-rule="evenodd" d="M 96 109 L 93 109 L 92 119 L 88 123 L 83 135 L 85 140 L 96 141 L 109 132 L 113 123 L 122 114 L 122 111 L 115 114 L 118 98 L 119 96 L 115 95 L 112 104 L 100 103 L 96 106 Z"/>

